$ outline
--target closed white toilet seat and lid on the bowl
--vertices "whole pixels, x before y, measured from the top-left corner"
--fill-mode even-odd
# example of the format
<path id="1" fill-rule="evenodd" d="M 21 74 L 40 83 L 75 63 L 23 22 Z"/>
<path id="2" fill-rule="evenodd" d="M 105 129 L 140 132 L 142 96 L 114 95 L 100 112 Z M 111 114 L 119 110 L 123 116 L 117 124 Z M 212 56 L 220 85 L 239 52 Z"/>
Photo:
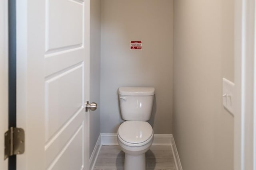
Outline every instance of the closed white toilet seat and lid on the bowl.
<path id="1" fill-rule="evenodd" d="M 153 138 L 153 129 L 146 121 L 125 121 L 118 128 L 118 139 L 125 145 L 139 147 Z"/>

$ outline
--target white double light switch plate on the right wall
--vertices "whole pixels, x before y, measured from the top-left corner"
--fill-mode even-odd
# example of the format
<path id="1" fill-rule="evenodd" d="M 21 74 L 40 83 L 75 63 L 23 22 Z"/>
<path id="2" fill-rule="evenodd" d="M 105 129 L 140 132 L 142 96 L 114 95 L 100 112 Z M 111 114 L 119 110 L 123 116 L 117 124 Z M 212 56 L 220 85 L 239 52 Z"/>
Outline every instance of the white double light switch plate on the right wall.
<path id="1" fill-rule="evenodd" d="M 222 103 L 223 106 L 234 115 L 234 86 L 235 84 L 223 78 L 222 84 Z"/>

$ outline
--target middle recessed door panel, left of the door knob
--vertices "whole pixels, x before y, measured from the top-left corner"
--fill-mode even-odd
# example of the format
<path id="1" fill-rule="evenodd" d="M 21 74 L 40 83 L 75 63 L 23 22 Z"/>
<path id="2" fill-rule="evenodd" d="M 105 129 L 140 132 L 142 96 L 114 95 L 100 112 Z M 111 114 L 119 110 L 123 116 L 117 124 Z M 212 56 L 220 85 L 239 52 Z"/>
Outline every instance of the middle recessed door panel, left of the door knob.
<path id="1" fill-rule="evenodd" d="M 46 141 L 83 108 L 83 64 L 46 79 Z"/>

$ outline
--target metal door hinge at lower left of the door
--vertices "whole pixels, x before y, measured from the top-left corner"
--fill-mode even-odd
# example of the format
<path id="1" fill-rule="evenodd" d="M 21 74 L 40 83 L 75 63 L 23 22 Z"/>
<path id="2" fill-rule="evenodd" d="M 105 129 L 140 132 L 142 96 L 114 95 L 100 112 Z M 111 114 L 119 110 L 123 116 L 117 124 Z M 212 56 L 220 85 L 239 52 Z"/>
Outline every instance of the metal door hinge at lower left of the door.
<path id="1" fill-rule="evenodd" d="M 4 160 L 9 156 L 23 154 L 25 151 L 25 133 L 24 130 L 17 127 L 11 127 L 4 133 Z"/>

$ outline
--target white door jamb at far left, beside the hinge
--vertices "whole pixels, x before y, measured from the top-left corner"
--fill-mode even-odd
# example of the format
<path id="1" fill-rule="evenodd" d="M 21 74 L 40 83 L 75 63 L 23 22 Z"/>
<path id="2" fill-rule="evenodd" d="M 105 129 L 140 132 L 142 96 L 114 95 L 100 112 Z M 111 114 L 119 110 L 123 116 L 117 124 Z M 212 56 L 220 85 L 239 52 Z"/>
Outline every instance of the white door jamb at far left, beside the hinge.
<path id="1" fill-rule="evenodd" d="M 7 170 L 4 161 L 4 132 L 8 130 L 8 6 L 0 1 L 0 169 Z"/>

